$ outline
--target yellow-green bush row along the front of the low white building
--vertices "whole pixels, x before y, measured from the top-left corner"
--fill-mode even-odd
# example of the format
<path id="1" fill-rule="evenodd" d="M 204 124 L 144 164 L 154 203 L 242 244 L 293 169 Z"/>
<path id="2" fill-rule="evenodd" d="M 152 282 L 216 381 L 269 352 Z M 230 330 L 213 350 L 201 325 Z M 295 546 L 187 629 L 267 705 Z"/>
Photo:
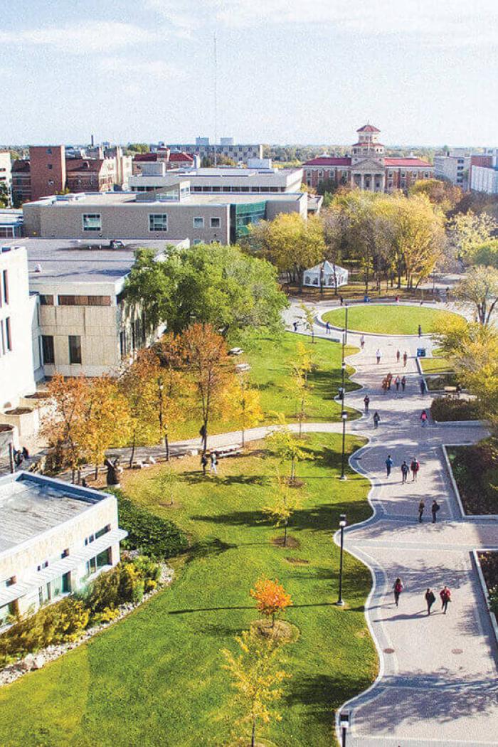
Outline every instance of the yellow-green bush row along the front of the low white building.
<path id="1" fill-rule="evenodd" d="M 80 595 L 19 619 L 0 636 L 0 666 L 49 645 L 75 641 L 87 627 L 116 618 L 119 605 L 141 601 L 160 574 L 159 565 L 148 557 L 123 560 L 99 574 Z"/>

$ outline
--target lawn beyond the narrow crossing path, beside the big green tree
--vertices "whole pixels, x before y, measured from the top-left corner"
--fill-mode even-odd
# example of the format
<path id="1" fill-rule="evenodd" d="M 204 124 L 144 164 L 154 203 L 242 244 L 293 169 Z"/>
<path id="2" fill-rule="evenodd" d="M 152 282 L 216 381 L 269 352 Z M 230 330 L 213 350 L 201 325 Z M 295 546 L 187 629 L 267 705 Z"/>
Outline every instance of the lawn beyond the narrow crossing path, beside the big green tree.
<path id="1" fill-rule="evenodd" d="M 340 344 L 320 339 L 311 344 L 310 338 L 285 332 L 276 338 L 248 335 L 239 343 L 244 353 L 237 357 L 237 363 L 246 362 L 251 366 L 249 380 L 260 391 L 264 422 L 270 422 L 273 412 L 283 412 L 289 422 L 296 420 L 298 405 L 288 391 L 287 383 L 290 382 L 291 365 L 296 360 L 299 343 L 312 351 L 314 364 L 314 370 L 309 376 L 312 389 L 307 409 L 308 421 L 339 421 L 340 406 L 334 402 L 334 397 L 340 386 Z M 346 347 L 346 355 L 351 355 L 355 350 L 354 347 Z M 352 371 L 351 367 L 346 368 L 348 375 Z M 347 381 L 346 388 L 352 390 L 358 388 L 358 385 Z M 199 433 L 199 427 L 200 421 L 191 419 L 179 423 L 172 432 L 172 440 L 193 438 Z M 230 430 L 237 430 L 237 424 L 229 418 L 216 418 L 211 423 L 211 434 Z"/>

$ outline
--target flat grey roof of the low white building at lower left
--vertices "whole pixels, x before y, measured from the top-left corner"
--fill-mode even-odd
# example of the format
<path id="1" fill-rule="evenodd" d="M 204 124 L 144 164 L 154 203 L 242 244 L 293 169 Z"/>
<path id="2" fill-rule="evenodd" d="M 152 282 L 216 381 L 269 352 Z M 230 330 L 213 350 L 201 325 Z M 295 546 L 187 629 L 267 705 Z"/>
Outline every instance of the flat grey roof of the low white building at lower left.
<path id="1" fill-rule="evenodd" d="M 22 472 L 0 477 L 0 553 L 69 521 L 107 497 Z"/>

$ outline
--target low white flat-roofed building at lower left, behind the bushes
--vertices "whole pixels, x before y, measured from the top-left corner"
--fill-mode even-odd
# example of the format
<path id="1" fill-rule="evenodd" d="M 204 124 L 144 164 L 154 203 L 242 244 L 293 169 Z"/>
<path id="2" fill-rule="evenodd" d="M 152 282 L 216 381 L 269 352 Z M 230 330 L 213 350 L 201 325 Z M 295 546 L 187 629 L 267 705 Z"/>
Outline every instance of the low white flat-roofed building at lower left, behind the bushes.
<path id="1" fill-rule="evenodd" d="M 51 477 L 0 477 L 0 628 L 83 588 L 119 562 L 113 495 Z"/>

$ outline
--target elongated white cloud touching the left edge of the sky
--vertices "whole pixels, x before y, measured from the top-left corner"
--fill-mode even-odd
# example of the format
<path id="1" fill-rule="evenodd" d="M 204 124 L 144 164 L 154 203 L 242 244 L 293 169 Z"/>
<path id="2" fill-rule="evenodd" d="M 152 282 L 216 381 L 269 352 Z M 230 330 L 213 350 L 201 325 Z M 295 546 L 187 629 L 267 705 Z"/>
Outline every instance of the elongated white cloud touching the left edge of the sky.
<path id="1" fill-rule="evenodd" d="M 0 31 L 0 43 L 16 46 L 45 46 L 60 52 L 84 55 L 88 52 L 109 52 L 113 49 L 150 43 L 164 38 L 140 26 L 118 21 L 90 21 L 65 27 Z"/>

